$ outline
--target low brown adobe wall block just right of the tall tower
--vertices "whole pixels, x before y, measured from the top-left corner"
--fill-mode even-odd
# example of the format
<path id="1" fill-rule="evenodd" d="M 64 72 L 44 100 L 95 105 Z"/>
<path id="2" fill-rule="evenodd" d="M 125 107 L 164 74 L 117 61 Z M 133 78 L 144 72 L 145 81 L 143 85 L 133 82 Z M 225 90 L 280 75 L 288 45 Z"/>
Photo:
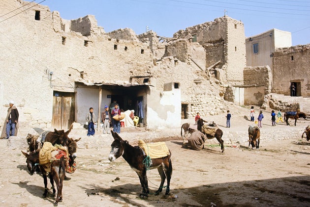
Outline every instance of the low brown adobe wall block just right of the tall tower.
<path id="1" fill-rule="evenodd" d="M 244 70 L 245 104 L 265 106 L 271 93 L 271 69 L 267 66 L 246 67 Z M 266 106 L 265 106 L 266 107 Z"/>

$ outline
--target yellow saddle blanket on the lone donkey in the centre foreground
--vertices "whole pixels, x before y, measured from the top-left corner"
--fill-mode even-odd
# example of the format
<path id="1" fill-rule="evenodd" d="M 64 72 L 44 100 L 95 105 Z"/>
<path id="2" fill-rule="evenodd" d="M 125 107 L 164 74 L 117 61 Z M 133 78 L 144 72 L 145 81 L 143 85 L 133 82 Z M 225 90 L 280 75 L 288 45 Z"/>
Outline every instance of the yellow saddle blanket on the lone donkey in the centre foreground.
<path id="1" fill-rule="evenodd" d="M 164 142 L 155 142 L 146 144 L 143 140 L 138 141 L 139 147 L 150 156 L 151 159 L 165 157 L 170 155 L 169 149 Z"/>

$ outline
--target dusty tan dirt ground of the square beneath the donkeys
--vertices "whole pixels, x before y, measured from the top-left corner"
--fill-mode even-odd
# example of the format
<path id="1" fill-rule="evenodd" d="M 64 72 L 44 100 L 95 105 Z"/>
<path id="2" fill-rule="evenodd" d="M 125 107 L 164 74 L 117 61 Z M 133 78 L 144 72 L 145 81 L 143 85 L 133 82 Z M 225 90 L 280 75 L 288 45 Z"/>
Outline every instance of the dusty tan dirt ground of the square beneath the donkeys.
<path id="1" fill-rule="evenodd" d="M 225 114 L 212 117 L 220 123 L 224 141 L 227 130 L 247 130 L 248 120 L 243 118 L 243 113 L 248 112 L 232 113 L 230 129 L 222 127 Z M 262 130 L 272 133 L 275 127 L 271 126 L 268 112 L 264 113 Z M 297 122 L 303 129 L 309 124 L 310 121 Z M 276 128 L 289 133 L 289 129 L 296 127 L 279 124 Z M 85 132 L 82 131 L 82 139 L 87 138 Z M 81 132 L 72 133 L 75 136 Z M 134 144 L 128 139 L 129 131 L 121 132 L 122 136 Z M 206 149 L 193 151 L 182 148 L 180 137 L 166 141 L 173 165 L 170 198 L 165 198 L 163 190 L 160 195 L 151 194 L 143 200 L 139 198 L 142 188 L 138 176 L 123 157 L 112 163 L 107 158 L 112 136 L 96 135 L 94 139 L 104 147 L 78 149 L 78 168 L 75 173 L 67 174 L 71 180 L 64 181 L 63 202 L 58 206 L 309 207 L 310 142 L 301 140 L 301 134 L 299 137 L 261 141 L 259 150 L 250 150 L 243 144 L 239 148 L 225 144 L 224 153 L 217 144 L 206 144 Z M 0 140 L 0 150 L 0 206 L 53 206 L 51 194 L 42 198 L 43 179 L 39 174 L 28 173 L 26 158 L 20 149 L 9 149 L 7 140 Z M 157 170 L 148 171 L 148 179 L 151 193 L 154 193 L 160 183 Z"/>

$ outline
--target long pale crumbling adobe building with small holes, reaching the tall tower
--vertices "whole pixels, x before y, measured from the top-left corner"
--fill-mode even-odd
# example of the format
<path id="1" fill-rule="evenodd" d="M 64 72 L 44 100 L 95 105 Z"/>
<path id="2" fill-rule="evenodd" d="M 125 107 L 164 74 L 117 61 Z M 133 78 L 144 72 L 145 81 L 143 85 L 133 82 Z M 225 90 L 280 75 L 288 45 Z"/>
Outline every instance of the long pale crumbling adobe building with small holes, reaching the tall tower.
<path id="1" fill-rule="evenodd" d="M 143 83 L 143 77 L 150 77 L 146 84 L 154 87 L 156 93 L 152 95 L 156 97 L 166 83 L 179 82 L 180 102 L 189 106 L 189 116 L 195 116 L 197 111 L 202 115 L 218 114 L 230 104 L 223 99 L 227 84 L 243 81 L 243 24 L 227 16 L 179 31 L 176 37 L 161 38 L 152 31 L 136 35 L 129 28 L 106 33 L 93 15 L 64 20 L 47 6 L 28 3 L 4 0 L 6 6 L 0 7 L 2 14 L 26 5 L 31 7 L 1 22 L 0 49 L 5 52 L 0 64 L 6 73 L 0 76 L 0 123 L 6 116 L 8 101 L 13 100 L 20 111 L 20 127 L 51 129 L 54 92 L 76 96 L 77 82 L 84 83 L 85 88 L 100 84 L 134 86 Z M 197 42 L 193 42 L 195 35 Z M 205 70 L 219 60 L 223 78 L 217 79 Z M 167 103 L 165 97 L 160 100 L 163 105 L 181 105 L 174 100 Z M 107 100 L 94 110 L 102 109 Z M 98 105 L 92 100 L 84 101 Z M 173 117 L 178 115 L 176 123 L 181 119 L 178 107 L 173 110 Z M 158 117 L 159 108 L 152 106 Z M 163 109 L 168 113 L 168 109 Z M 84 119 L 79 105 L 75 110 L 81 116 L 76 120 Z"/>

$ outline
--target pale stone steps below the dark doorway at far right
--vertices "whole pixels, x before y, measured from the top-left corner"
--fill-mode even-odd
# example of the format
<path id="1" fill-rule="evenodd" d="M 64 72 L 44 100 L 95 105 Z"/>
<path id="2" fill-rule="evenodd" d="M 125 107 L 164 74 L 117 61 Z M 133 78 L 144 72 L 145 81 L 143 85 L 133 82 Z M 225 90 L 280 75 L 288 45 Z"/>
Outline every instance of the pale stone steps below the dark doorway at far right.
<path id="1" fill-rule="evenodd" d="M 300 111 L 310 114 L 310 97 L 302 96 L 284 96 L 282 94 L 271 93 L 272 99 L 280 103 L 280 108 L 285 108 L 287 105 L 299 104 Z"/>

